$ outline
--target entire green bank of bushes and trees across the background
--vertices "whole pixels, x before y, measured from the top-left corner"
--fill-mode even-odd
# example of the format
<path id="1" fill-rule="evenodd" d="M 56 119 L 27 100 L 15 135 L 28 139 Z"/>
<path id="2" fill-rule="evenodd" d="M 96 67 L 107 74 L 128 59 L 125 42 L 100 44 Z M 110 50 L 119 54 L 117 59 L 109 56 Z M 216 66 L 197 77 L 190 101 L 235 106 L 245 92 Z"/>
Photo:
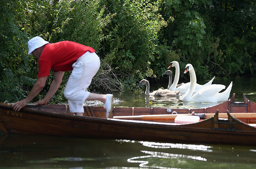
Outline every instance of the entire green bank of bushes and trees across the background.
<path id="1" fill-rule="evenodd" d="M 23 99 L 35 83 L 37 61 L 27 55 L 34 36 L 94 48 L 101 67 L 89 90 L 96 92 L 133 90 L 141 79 L 166 78 L 161 74 L 171 61 L 181 70 L 193 64 L 198 79 L 256 69 L 254 0 L 2 0 L 0 11 L 1 101 Z M 48 91 L 52 73 L 34 101 Z M 66 102 L 69 74 L 50 103 Z"/>

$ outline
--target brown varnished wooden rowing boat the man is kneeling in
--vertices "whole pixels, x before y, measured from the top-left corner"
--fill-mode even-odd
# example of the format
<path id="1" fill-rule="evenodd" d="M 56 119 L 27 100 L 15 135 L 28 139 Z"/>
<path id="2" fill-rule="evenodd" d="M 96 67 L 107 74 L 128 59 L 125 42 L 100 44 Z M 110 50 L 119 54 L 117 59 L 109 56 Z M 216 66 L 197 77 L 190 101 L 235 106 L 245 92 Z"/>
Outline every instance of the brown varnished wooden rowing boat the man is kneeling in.
<path id="1" fill-rule="evenodd" d="M 79 117 L 70 113 L 67 105 L 28 105 L 16 112 L 10 104 L 0 103 L 0 130 L 99 139 L 256 145 L 256 104 L 245 95 L 244 102 L 234 102 L 234 97 L 235 94 L 219 105 L 196 109 L 113 107 L 110 118 L 105 117 L 103 107 L 85 106 L 84 116 Z M 210 117 L 185 124 L 174 123 L 173 117 L 162 117 L 173 112 Z M 138 116 L 147 119 L 136 119 Z M 123 119 L 127 117 L 130 119 Z"/>

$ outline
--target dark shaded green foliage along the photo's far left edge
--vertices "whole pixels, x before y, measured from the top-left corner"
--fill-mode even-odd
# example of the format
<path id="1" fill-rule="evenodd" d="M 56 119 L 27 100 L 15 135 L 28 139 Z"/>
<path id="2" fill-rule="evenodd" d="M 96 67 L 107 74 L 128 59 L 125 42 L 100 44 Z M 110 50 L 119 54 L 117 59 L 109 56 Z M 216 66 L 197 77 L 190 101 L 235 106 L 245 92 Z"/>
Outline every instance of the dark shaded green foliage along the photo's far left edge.
<path id="1" fill-rule="evenodd" d="M 28 77 L 31 58 L 25 57 L 28 37 L 16 24 L 16 16 L 23 19 L 17 1 L 3 0 L 0 6 L 0 101 L 18 101 L 35 83 Z"/>

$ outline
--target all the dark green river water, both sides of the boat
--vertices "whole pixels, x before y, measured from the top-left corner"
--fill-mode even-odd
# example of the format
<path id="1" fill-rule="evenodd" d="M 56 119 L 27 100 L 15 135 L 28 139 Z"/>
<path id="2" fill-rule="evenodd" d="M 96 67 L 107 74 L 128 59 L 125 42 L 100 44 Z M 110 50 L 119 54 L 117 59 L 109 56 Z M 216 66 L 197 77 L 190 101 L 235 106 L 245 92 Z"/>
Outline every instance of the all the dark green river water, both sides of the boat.
<path id="1" fill-rule="evenodd" d="M 243 94 L 256 102 L 256 76 L 232 79 L 230 97 Z M 228 84 L 231 80 L 214 81 Z M 203 84 L 204 82 L 199 82 Z M 139 85 L 139 83 L 138 83 Z M 152 84 L 150 92 L 167 83 Z M 145 87 L 142 87 L 145 91 Z M 88 106 L 102 106 L 86 101 Z M 148 97 L 144 93 L 114 93 L 117 107 L 208 107 L 215 104 L 185 103 L 172 97 Z M 0 169 L 256 169 L 255 146 L 159 143 L 144 140 L 99 140 L 54 136 L 7 135 L 0 137 Z"/>

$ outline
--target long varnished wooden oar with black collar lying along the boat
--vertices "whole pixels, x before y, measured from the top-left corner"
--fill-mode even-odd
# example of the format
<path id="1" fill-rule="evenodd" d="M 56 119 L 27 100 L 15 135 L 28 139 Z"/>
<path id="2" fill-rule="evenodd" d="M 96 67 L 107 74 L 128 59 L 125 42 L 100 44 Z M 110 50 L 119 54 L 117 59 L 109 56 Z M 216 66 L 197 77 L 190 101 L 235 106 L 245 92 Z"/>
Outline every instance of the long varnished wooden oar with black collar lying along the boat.
<path id="1" fill-rule="evenodd" d="M 201 118 L 201 115 L 205 115 Z M 230 113 L 234 118 L 237 119 L 256 119 L 256 113 Z M 126 116 L 114 116 L 113 119 L 125 119 L 125 120 L 174 120 L 177 115 L 191 115 L 191 114 L 156 114 L 156 115 L 126 115 Z M 215 113 L 198 113 L 195 114 L 200 119 L 212 117 Z M 219 118 L 227 118 L 227 113 L 219 113 Z"/>

